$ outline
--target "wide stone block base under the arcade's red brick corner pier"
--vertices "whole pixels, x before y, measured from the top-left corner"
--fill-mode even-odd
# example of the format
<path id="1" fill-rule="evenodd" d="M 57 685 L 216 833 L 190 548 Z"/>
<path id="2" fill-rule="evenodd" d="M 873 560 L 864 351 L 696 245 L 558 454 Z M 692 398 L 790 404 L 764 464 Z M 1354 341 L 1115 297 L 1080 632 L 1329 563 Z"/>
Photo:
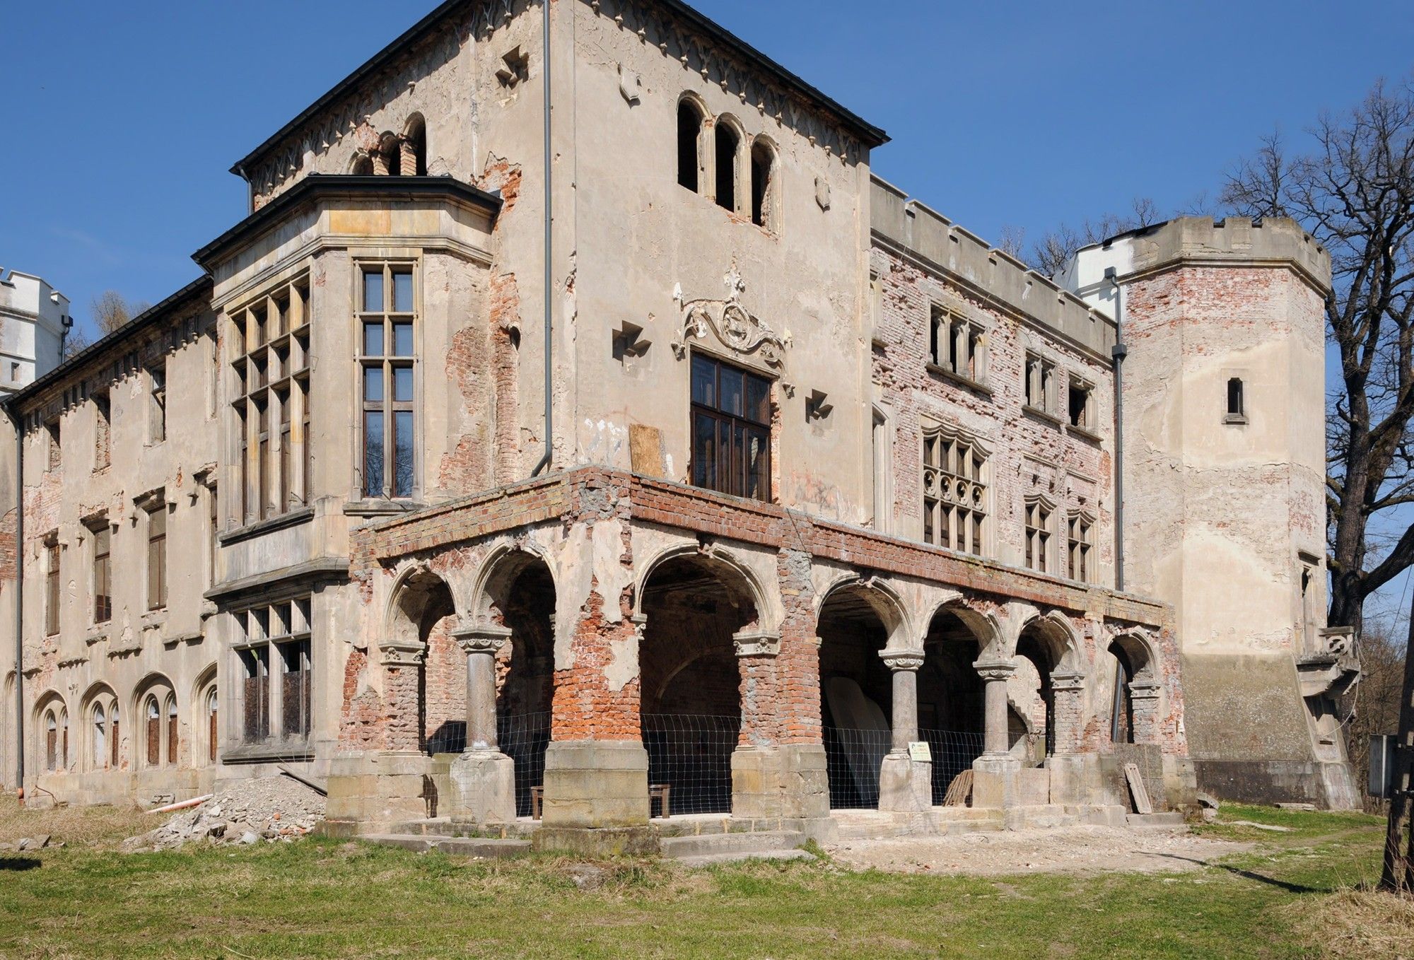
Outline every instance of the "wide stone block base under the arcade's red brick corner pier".
<path id="1" fill-rule="evenodd" d="M 648 751 L 638 741 L 551 741 L 542 833 L 648 827 Z M 549 841 L 549 836 L 547 836 Z"/>

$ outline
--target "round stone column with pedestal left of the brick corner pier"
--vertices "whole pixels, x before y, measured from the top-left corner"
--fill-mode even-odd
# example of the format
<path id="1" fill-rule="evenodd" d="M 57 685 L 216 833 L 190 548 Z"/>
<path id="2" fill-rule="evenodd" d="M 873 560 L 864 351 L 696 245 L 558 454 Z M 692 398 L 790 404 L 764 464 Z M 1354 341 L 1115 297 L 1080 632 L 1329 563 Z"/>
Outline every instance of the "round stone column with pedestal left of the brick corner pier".
<path id="1" fill-rule="evenodd" d="M 478 624 L 452 631 L 467 655 L 467 747 L 451 765 L 451 816 L 477 824 L 516 819 L 516 765 L 496 747 L 496 650 L 510 631 Z"/>

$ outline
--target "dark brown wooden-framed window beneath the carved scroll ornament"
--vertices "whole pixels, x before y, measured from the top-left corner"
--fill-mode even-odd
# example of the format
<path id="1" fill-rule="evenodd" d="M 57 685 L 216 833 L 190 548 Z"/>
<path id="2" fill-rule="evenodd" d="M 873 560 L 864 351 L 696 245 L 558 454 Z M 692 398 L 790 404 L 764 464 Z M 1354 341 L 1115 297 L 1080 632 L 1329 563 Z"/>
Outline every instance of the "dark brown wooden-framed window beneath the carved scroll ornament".
<path id="1" fill-rule="evenodd" d="M 771 380 L 694 353 L 691 361 L 693 485 L 771 499 Z"/>

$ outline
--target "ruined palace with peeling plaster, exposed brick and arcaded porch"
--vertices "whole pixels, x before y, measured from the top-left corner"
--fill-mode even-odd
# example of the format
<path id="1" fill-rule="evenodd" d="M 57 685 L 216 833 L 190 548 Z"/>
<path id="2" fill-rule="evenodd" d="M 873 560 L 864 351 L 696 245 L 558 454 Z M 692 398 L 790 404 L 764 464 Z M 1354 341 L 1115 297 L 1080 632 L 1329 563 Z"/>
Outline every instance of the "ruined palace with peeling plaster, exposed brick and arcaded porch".
<path id="1" fill-rule="evenodd" d="M 6 402 L 7 785 L 619 848 L 1352 804 L 1326 252 L 1048 279 L 887 140 L 679 0 L 438 6 Z"/>

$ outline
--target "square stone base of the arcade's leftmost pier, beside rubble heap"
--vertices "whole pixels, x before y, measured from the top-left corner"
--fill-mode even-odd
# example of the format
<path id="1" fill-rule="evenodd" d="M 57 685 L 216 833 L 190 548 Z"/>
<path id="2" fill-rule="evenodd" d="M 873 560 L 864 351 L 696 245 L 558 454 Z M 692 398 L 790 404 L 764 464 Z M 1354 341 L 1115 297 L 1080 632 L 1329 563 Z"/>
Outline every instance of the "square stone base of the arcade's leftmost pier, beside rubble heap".
<path id="1" fill-rule="evenodd" d="M 445 758 L 370 752 L 329 761 L 325 833 L 368 833 L 378 824 L 443 813 L 451 795 Z"/>

